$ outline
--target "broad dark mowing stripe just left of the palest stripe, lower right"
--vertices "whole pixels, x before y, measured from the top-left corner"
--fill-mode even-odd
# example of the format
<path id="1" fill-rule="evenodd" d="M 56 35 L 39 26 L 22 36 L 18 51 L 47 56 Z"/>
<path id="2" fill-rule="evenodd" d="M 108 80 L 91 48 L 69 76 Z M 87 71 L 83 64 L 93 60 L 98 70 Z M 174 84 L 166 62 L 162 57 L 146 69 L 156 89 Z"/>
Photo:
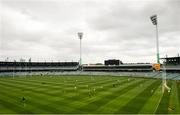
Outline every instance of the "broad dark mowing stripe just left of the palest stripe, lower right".
<path id="1" fill-rule="evenodd" d="M 115 113 L 137 114 L 145 105 L 146 101 L 154 94 L 160 83 L 160 81 L 155 81 Z M 152 90 L 153 92 L 151 92 Z"/>

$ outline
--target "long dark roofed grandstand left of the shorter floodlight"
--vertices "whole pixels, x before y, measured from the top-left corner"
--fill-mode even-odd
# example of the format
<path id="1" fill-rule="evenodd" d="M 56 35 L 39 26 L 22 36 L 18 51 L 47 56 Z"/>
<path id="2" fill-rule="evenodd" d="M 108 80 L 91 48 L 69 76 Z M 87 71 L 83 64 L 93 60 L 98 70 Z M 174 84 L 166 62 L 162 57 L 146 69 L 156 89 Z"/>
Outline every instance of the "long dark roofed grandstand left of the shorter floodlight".
<path id="1" fill-rule="evenodd" d="M 76 71 L 78 62 L 0 62 L 0 72 Z"/>

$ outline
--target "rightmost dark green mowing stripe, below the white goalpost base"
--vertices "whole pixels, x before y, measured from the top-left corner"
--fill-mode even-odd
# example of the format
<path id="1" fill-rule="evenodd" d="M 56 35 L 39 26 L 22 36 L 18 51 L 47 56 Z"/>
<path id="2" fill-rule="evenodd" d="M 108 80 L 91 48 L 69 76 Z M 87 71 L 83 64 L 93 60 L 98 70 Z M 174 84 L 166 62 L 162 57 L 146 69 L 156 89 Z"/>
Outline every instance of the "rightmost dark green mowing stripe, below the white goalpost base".
<path id="1" fill-rule="evenodd" d="M 171 87 L 172 82 L 169 81 L 168 82 L 168 86 Z M 168 107 L 169 107 L 169 98 L 170 98 L 170 94 L 168 91 L 164 91 L 163 97 L 159 103 L 159 106 L 156 110 L 157 114 L 168 114 Z"/>

